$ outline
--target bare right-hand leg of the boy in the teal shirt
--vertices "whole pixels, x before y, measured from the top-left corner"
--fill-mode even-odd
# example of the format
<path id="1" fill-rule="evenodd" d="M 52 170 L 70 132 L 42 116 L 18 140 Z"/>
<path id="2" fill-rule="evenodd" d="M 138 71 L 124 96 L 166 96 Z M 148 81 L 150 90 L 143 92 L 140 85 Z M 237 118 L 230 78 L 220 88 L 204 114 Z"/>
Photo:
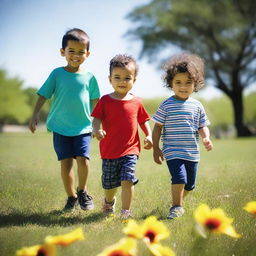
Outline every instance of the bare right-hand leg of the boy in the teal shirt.
<path id="1" fill-rule="evenodd" d="M 89 159 L 86 157 L 78 156 L 77 162 L 77 174 L 78 174 L 78 190 L 87 191 L 87 179 L 89 174 Z"/>

